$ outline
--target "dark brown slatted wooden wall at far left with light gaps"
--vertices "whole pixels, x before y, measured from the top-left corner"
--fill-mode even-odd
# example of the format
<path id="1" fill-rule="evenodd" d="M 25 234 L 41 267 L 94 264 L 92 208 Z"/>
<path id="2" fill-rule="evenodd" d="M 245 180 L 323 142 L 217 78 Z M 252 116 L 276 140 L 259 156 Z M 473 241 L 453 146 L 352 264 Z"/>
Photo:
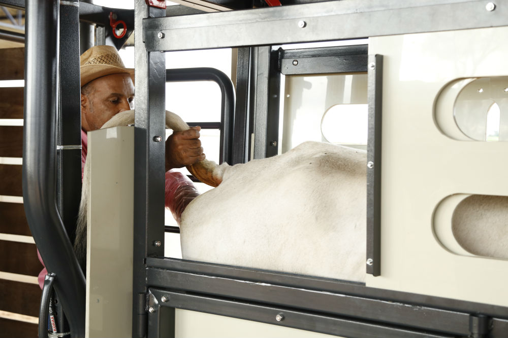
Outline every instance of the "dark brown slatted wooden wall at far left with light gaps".
<path id="1" fill-rule="evenodd" d="M 0 49 L 0 81 L 23 79 L 24 48 Z M 25 219 L 23 87 L 0 87 L 0 338 L 36 337 L 42 265 Z"/>

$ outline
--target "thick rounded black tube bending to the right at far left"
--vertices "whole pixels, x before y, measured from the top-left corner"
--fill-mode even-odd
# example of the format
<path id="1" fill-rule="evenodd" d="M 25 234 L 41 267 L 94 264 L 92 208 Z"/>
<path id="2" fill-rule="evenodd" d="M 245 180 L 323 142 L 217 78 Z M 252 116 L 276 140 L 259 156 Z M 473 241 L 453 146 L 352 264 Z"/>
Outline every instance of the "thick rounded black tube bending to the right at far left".
<path id="1" fill-rule="evenodd" d="M 84 336 L 85 278 L 56 209 L 59 2 L 27 1 L 23 201 L 31 234 L 73 335 Z"/>

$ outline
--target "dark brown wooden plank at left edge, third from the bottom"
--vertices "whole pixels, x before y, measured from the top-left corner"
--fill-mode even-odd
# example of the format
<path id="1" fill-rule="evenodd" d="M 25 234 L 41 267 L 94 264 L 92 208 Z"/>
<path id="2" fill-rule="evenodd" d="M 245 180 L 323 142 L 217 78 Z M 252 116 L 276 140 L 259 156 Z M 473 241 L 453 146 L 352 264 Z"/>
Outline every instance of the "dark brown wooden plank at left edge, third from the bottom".
<path id="1" fill-rule="evenodd" d="M 0 257 L 0 271 L 38 276 L 43 269 L 35 244 L 0 240 Z"/>

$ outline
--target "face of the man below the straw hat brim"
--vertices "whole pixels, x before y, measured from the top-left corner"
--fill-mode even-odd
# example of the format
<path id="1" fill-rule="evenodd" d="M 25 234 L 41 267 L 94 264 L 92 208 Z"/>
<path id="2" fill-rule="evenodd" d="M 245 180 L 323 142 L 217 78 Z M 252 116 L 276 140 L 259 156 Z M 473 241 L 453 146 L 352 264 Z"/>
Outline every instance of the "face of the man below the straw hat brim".
<path id="1" fill-rule="evenodd" d="M 81 127 L 97 130 L 120 111 L 134 108 L 134 84 L 128 73 L 93 80 L 81 91 Z"/>

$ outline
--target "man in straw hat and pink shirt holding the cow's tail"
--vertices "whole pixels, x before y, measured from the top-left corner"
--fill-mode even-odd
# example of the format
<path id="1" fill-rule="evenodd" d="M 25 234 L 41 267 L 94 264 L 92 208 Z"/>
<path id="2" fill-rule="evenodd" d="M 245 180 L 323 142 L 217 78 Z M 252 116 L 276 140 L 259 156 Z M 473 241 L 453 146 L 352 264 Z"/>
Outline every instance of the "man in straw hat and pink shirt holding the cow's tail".
<path id="1" fill-rule="evenodd" d="M 94 46 L 80 56 L 81 77 L 81 179 L 87 155 L 87 132 L 100 129 L 121 111 L 134 109 L 134 69 L 125 68 L 117 50 L 111 46 Z M 199 193 L 185 175 L 174 168 L 205 159 L 200 127 L 173 132 L 166 141 L 165 205 L 180 223 L 183 210 Z M 86 229 L 85 229 L 86 230 Z M 77 231 L 74 248 L 83 270 L 86 267 L 86 231 Z M 41 260 L 42 262 L 42 260 Z M 46 268 L 39 274 L 42 288 Z"/>

